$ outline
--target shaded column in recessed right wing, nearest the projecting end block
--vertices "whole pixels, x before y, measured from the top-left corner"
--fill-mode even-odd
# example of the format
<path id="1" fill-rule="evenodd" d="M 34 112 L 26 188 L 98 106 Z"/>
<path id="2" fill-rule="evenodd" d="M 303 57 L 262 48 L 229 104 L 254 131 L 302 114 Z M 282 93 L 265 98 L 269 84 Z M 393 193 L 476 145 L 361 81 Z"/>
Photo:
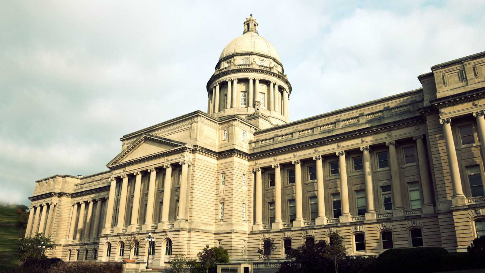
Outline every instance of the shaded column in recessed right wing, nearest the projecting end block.
<path id="1" fill-rule="evenodd" d="M 423 144 L 423 136 L 415 136 L 416 149 L 418 150 L 418 162 L 420 164 L 421 188 L 423 189 L 423 214 L 435 213 L 431 194 L 431 184 L 429 181 L 428 161 L 426 160 L 426 149 Z"/>

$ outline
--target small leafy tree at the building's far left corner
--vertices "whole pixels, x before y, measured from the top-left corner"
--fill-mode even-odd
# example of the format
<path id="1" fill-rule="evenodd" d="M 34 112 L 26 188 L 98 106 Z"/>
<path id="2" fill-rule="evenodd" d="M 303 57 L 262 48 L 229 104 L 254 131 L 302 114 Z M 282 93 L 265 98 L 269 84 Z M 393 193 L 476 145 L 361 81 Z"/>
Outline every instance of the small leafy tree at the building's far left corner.
<path id="1" fill-rule="evenodd" d="M 20 238 L 18 244 L 20 261 L 26 261 L 27 259 L 45 259 L 47 258 L 45 250 L 56 248 L 54 242 L 50 240 L 50 237 L 44 237 L 41 233 L 35 234 L 34 237 Z"/>

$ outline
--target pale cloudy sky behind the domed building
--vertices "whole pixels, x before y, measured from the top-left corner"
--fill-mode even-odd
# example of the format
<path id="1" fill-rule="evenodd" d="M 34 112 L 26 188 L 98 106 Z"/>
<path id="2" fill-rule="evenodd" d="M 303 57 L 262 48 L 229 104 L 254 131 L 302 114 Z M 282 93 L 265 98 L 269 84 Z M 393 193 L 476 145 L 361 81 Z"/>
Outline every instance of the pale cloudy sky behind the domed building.
<path id="1" fill-rule="evenodd" d="M 106 170 L 123 134 L 205 111 L 251 13 L 292 84 L 291 120 L 419 88 L 432 65 L 485 50 L 483 0 L 383 3 L 3 1 L 0 201 L 29 205 L 35 180 Z"/>

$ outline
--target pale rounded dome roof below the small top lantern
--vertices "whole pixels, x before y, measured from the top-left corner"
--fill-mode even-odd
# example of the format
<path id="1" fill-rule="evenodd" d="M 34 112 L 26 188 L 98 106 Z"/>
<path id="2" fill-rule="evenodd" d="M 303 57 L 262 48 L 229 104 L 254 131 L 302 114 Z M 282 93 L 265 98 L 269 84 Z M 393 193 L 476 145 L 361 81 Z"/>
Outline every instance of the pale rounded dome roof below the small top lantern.
<path id="1" fill-rule="evenodd" d="M 230 41 L 222 50 L 219 61 L 234 53 L 260 53 L 271 56 L 281 63 L 276 48 L 256 32 L 246 32 Z"/>

